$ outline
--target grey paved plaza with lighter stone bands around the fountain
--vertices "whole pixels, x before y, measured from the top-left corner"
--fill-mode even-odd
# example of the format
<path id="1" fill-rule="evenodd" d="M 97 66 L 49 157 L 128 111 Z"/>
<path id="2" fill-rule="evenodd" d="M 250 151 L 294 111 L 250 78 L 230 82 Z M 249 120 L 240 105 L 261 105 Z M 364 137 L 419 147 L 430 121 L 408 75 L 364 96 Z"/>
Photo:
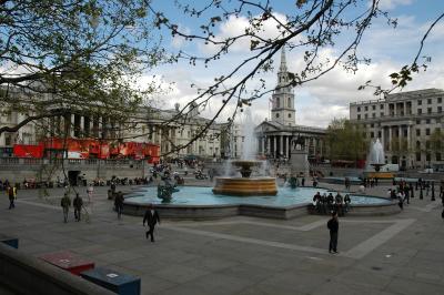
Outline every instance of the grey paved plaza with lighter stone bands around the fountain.
<path id="1" fill-rule="evenodd" d="M 367 193 L 385 195 L 389 187 Z M 97 266 L 140 276 L 142 294 L 443 294 L 440 199 L 418 200 L 416 193 L 396 215 L 340 217 L 340 254 L 333 255 L 329 217 L 319 215 L 162 220 L 151 243 L 141 217 L 117 218 L 107 190 L 95 190 L 89 221 L 74 222 L 71 210 L 67 224 L 62 189 L 44 197 L 19 191 L 11 211 L 4 194 L 0 233 L 18 236 L 20 251 L 29 255 L 69 250 Z"/>

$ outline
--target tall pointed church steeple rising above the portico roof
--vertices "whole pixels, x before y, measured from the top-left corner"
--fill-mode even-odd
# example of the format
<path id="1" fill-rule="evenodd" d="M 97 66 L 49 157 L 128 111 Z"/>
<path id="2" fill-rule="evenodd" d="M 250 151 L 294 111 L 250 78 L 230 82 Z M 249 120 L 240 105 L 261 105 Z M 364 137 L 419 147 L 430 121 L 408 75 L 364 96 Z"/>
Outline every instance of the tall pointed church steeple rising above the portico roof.
<path id="1" fill-rule="evenodd" d="M 296 124 L 294 110 L 293 88 L 289 84 L 289 71 L 286 69 L 285 49 L 281 51 L 281 65 L 278 72 L 278 85 L 272 95 L 271 121 L 285 126 Z"/>

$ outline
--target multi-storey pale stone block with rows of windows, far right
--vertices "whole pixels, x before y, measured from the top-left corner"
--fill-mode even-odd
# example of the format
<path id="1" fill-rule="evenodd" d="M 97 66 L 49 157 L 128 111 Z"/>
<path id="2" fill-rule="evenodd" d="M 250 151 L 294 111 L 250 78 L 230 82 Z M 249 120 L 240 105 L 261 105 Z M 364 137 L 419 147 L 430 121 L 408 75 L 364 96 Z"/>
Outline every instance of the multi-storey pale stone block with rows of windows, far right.
<path id="1" fill-rule="evenodd" d="M 350 120 L 380 139 L 386 163 L 404 167 L 444 164 L 444 91 L 424 89 L 350 103 Z M 441 143 L 440 143 L 441 142 Z"/>

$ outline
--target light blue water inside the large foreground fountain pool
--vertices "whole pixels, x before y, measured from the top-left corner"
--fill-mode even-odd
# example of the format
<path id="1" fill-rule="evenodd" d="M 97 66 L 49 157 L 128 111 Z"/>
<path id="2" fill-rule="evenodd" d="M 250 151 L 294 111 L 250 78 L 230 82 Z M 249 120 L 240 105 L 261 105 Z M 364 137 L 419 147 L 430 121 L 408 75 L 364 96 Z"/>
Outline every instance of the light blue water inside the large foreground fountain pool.
<path id="1" fill-rule="evenodd" d="M 170 204 L 175 205 L 226 205 L 226 204 L 254 204 L 254 205 L 266 205 L 266 206 L 292 206 L 297 204 L 312 203 L 313 195 L 316 192 L 321 194 L 330 192 L 324 189 L 314 187 L 279 187 L 278 195 L 273 196 L 228 196 L 228 195 L 215 195 L 212 192 L 212 187 L 199 187 L 199 186 L 181 186 L 179 192 L 173 193 L 173 199 Z M 342 193 L 342 196 L 345 193 Z M 336 192 L 333 192 L 336 195 Z M 391 201 L 374 197 L 374 196 L 362 196 L 362 195 L 350 195 L 352 204 L 381 204 L 390 203 Z M 158 199 L 157 187 L 144 187 L 141 191 L 137 191 L 131 195 L 128 195 L 125 202 L 131 203 L 153 203 L 160 204 L 162 200 Z"/>

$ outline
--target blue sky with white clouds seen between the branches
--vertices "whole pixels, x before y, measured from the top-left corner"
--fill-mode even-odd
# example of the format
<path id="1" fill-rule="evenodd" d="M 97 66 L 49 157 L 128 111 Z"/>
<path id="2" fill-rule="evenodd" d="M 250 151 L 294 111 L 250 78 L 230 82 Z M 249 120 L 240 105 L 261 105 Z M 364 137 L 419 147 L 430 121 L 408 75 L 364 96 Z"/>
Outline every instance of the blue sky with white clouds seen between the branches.
<path id="1" fill-rule="evenodd" d="M 173 1 L 154 0 L 154 7 L 164 11 L 165 16 L 185 32 L 195 32 L 202 23 L 202 19 L 185 18 L 180 9 L 174 8 Z M 186 1 L 185 1 L 186 2 Z M 206 1 L 194 1 L 196 6 L 203 6 Z M 236 1 L 232 1 L 236 2 Z M 274 16 L 280 20 L 285 20 L 285 13 L 291 14 L 295 11 L 294 0 L 271 0 Z M 310 2 L 310 1 L 309 1 Z M 369 1 L 363 0 L 359 9 L 364 9 Z M 357 54 L 372 60 L 371 64 L 361 64 L 359 71 L 350 73 L 341 68 L 335 68 L 327 74 L 306 84 L 296 87 L 295 110 L 296 124 L 326 128 L 334 118 L 349 118 L 349 103 L 355 101 L 366 101 L 380 99 L 373 95 L 373 90 L 359 91 L 357 88 L 371 80 L 372 84 L 390 88 L 391 80 L 389 74 L 398 71 L 403 65 L 410 64 L 418 48 L 424 32 L 430 24 L 444 12 L 443 0 L 381 0 L 381 9 L 389 12 L 391 18 L 397 19 L 397 27 L 387 26 L 386 20 L 379 18 L 374 20 L 372 27 L 365 32 Z M 211 11 L 209 12 L 209 16 Z M 214 27 L 216 38 L 224 38 L 242 32 L 248 24 L 244 16 L 223 20 Z M 278 29 L 275 23 L 265 24 L 264 35 L 275 35 Z M 339 49 L 345 44 L 347 34 L 339 39 L 332 48 L 326 48 L 321 53 L 324 58 L 334 59 L 337 57 Z M 163 44 L 170 52 L 179 50 L 190 54 L 205 55 L 213 52 L 213 48 L 198 41 L 185 41 L 181 38 L 171 38 L 164 34 Z M 211 84 L 214 77 L 226 74 L 236 67 L 245 57 L 251 54 L 250 42 L 245 40 L 232 48 L 229 54 L 208 68 L 203 64 L 190 65 L 188 62 L 178 62 L 157 68 L 154 72 L 147 73 L 141 80 L 151 81 L 152 75 L 162 83 L 169 84 L 170 90 L 165 94 L 157 95 L 155 106 L 172 109 L 175 103 L 181 106 L 196 96 L 196 90 L 191 84 L 204 87 Z M 402 91 L 438 88 L 444 89 L 444 20 L 431 31 L 426 39 L 421 57 L 431 57 L 431 62 L 425 72 L 415 74 L 414 79 Z M 286 51 L 289 71 L 297 72 L 302 68 L 302 52 L 292 50 Z M 420 59 L 422 62 L 423 59 Z M 280 62 L 280 54 L 274 57 L 275 64 Z M 260 85 L 260 79 L 266 81 L 266 90 L 272 90 L 276 84 L 276 71 L 266 72 L 255 77 L 249 82 L 252 90 Z M 242 73 L 241 73 L 242 74 Z M 236 79 L 242 75 L 235 77 Z M 167 88 L 165 88 L 167 89 Z M 252 103 L 253 120 L 260 123 L 269 118 L 269 99 L 271 93 L 258 99 Z M 202 110 L 202 115 L 211 118 L 222 105 L 222 99 L 213 100 L 208 108 Z M 222 112 L 219 122 L 226 122 L 232 114 L 233 105 L 229 105 Z"/>

